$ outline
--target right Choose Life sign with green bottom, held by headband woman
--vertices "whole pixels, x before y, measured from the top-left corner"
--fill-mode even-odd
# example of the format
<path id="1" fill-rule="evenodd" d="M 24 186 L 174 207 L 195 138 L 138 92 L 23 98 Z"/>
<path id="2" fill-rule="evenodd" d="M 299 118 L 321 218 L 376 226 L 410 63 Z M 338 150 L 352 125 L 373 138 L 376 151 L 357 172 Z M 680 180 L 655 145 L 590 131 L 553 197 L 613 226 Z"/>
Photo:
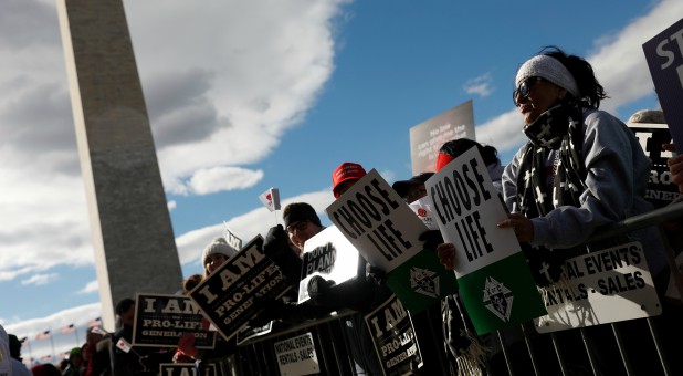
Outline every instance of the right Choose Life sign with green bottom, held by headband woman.
<path id="1" fill-rule="evenodd" d="M 425 184 L 439 229 L 456 249 L 455 275 L 476 333 L 546 314 L 513 229 L 498 229 L 507 211 L 473 147 Z"/>

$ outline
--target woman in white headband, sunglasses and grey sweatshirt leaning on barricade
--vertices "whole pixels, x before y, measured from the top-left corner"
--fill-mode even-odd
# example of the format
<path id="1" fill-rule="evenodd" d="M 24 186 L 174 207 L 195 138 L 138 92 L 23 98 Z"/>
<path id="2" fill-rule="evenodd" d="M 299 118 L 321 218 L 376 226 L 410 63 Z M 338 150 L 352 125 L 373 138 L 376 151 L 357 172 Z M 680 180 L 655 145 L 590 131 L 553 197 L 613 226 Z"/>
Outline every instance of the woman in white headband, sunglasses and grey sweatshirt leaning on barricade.
<path id="1" fill-rule="evenodd" d="M 566 281 L 564 260 L 586 253 L 581 244 L 597 229 L 652 210 L 644 199 L 651 161 L 633 132 L 598 109 L 607 95 L 586 60 L 556 48 L 544 49 L 519 67 L 515 85 L 513 100 L 524 117 L 528 142 L 503 174 L 505 203 L 512 215 L 498 227 L 515 230 L 536 283 L 551 290 Z M 645 229 L 588 249 L 640 239 L 655 276 L 666 261 L 653 231 Z M 563 337 L 570 340 L 571 334 Z M 581 347 L 577 342 L 566 359 L 586 364 Z"/>

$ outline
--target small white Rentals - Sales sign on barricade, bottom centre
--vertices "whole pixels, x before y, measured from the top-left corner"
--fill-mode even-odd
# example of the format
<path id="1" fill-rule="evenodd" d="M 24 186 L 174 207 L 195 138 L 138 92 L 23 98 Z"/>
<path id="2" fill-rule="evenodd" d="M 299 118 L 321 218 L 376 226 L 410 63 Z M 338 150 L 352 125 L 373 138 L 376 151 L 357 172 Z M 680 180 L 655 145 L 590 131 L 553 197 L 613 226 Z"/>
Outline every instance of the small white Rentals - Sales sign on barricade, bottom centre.
<path id="1" fill-rule="evenodd" d="M 312 375 L 321 372 L 311 333 L 275 342 L 273 348 L 282 376 Z"/>

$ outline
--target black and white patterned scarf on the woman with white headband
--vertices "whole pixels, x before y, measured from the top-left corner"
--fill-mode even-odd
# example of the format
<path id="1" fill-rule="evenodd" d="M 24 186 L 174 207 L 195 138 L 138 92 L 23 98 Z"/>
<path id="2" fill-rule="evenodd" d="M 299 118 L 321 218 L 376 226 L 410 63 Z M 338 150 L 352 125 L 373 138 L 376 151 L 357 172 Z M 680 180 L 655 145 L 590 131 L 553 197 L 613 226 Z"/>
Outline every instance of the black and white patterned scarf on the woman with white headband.
<path id="1" fill-rule="evenodd" d="M 524 127 L 529 138 L 517 168 L 517 203 L 527 218 L 546 216 L 561 206 L 580 207 L 587 189 L 586 166 L 580 157 L 584 145 L 582 114 L 575 103 L 559 104 Z M 545 161 L 555 152 L 551 176 L 545 176 Z M 551 187 L 547 184 L 551 178 Z M 549 191 L 551 190 L 551 191 Z M 560 280 L 565 259 L 572 252 L 554 251 L 543 246 L 522 244 L 538 286 Z"/>

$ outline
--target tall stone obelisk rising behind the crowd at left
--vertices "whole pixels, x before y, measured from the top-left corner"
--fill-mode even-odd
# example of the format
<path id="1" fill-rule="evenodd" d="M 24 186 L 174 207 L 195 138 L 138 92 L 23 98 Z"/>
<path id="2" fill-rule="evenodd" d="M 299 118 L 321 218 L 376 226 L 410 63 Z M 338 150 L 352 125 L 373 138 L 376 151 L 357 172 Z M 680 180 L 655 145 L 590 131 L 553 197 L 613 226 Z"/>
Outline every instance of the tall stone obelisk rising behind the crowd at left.
<path id="1" fill-rule="evenodd" d="M 123 0 L 57 0 L 102 318 L 182 272 Z"/>

